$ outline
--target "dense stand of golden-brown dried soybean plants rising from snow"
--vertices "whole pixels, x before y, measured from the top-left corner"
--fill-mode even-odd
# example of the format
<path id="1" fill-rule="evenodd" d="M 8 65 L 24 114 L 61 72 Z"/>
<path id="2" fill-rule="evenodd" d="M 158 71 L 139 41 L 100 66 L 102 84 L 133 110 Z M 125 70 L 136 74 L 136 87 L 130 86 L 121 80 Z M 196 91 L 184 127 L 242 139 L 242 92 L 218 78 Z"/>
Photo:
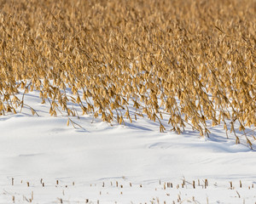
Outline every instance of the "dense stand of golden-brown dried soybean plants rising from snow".
<path id="1" fill-rule="evenodd" d="M 148 116 L 161 132 L 163 116 L 177 133 L 189 125 L 201 135 L 207 122 L 236 135 L 238 122 L 247 139 L 245 128 L 256 125 L 255 7 L 253 0 L 1 0 L 0 114 L 26 105 L 20 90 L 38 90 L 53 116 L 60 107 L 76 116 L 72 101 L 107 122 Z"/>

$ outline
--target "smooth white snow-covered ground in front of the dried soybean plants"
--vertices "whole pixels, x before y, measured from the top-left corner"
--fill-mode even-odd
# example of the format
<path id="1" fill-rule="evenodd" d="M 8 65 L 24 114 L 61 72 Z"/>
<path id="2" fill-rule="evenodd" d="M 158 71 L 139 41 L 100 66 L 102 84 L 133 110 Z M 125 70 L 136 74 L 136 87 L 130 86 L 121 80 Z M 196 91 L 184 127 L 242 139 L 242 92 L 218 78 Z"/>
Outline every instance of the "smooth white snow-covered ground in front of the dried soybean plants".
<path id="1" fill-rule="evenodd" d="M 223 127 L 206 139 L 81 116 L 73 128 L 25 98 L 40 116 L 0 117 L 0 203 L 256 203 L 256 153 Z"/>

